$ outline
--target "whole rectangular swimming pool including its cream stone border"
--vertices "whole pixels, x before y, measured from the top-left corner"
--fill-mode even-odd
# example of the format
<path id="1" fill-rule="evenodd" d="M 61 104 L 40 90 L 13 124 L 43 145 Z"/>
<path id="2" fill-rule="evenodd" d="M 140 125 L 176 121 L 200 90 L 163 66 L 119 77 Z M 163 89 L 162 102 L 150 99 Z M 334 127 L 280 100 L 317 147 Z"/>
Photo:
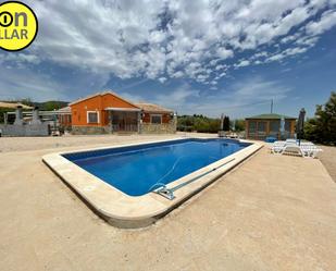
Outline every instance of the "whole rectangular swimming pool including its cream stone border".
<path id="1" fill-rule="evenodd" d="M 178 138 L 54 152 L 42 161 L 110 224 L 142 227 L 262 146 L 246 140 Z"/>

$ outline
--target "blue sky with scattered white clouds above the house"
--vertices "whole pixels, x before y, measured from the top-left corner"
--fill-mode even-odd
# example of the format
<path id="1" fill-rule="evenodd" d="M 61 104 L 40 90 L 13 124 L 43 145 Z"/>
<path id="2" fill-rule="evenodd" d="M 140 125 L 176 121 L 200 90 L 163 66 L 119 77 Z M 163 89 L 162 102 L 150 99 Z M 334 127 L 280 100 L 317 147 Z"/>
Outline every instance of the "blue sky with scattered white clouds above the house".
<path id="1" fill-rule="evenodd" d="M 313 115 L 336 90 L 336 1 L 24 1 L 33 45 L 0 51 L 0 99 L 104 89 L 178 114 Z"/>

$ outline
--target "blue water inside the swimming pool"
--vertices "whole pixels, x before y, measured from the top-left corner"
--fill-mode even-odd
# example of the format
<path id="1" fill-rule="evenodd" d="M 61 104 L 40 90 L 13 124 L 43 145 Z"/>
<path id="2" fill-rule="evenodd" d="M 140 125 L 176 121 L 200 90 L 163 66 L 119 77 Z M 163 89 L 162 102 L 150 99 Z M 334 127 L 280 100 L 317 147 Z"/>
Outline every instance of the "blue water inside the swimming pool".
<path id="1" fill-rule="evenodd" d="M 192 138 L 64 157 L 123 193 L 141 196 L 248 145 L 229 139 Z"/>

